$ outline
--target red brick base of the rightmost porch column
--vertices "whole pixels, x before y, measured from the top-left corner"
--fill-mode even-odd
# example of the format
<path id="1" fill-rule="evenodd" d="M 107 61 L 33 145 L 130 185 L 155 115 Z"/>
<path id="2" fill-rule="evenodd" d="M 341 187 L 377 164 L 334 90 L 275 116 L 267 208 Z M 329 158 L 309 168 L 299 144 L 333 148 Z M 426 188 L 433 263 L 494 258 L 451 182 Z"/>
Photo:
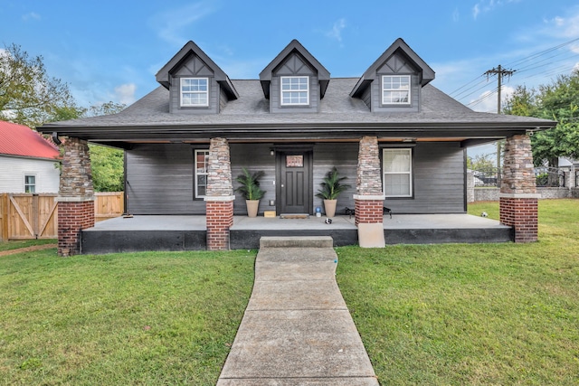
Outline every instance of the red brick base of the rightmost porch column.
<path id="1" fill-rule="evenodd" d="M 504 194 L 499 198 L 500 222 L 513 227 L 515 242 L 538 240 L 538 196 Z"/>

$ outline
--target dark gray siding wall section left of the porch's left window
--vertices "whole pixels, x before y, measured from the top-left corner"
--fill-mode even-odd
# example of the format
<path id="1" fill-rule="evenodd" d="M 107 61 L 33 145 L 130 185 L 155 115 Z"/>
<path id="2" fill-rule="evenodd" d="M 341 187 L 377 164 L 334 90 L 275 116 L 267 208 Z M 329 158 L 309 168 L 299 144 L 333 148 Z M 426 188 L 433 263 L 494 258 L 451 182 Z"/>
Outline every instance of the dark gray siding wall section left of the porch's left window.
<path id="1" fill-rule="evenodd" d="M 193 198 L 192 146 L 138 145 L 128 150 L 126 156 L 128 212 L 205 213 L 205 202 Z"/>

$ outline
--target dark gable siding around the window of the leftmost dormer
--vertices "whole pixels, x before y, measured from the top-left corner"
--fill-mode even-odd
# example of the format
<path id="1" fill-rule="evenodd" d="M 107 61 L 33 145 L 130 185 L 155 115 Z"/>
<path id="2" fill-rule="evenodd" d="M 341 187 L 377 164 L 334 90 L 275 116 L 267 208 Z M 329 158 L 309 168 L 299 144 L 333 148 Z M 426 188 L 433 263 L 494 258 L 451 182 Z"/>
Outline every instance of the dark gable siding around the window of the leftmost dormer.
<path id="1" fill-rule="evenodd" d="M 208 78 L 209 79 L 209 106 L 208 107 L 181 107 L 181 78 Z M 198 56 L 193 55 L 171 74 L 169 91 L 169 112 L 179 114 L 217 114 L 220 111 L 221 91 L 214 78 L 214 71 L 210 69 Z"/>

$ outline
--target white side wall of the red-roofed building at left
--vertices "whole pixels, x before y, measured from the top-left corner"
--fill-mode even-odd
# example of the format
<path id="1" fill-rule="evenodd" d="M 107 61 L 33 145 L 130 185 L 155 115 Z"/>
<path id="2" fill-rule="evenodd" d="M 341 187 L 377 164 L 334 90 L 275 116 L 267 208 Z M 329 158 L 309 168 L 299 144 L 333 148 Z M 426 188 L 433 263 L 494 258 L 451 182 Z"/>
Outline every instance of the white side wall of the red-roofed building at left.
<path id="1" fill-rule="evenodd" d="M 0 155 L 0 193 L 24 193 L 24 175 L 34 175 L 35 193 L 58 193 L 57 160 Z"/>

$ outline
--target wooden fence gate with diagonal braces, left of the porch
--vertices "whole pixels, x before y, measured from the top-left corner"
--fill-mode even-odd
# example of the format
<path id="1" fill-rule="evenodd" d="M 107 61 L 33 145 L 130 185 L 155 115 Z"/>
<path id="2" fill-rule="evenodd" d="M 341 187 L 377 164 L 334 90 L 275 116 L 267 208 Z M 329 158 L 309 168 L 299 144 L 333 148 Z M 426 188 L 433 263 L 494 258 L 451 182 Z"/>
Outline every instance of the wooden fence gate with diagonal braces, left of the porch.
<path id="1" fill-rule="evenodd" d="M 57 194 L 5 194 L 3 227 L 8 240 L 58 237 Z"/>

